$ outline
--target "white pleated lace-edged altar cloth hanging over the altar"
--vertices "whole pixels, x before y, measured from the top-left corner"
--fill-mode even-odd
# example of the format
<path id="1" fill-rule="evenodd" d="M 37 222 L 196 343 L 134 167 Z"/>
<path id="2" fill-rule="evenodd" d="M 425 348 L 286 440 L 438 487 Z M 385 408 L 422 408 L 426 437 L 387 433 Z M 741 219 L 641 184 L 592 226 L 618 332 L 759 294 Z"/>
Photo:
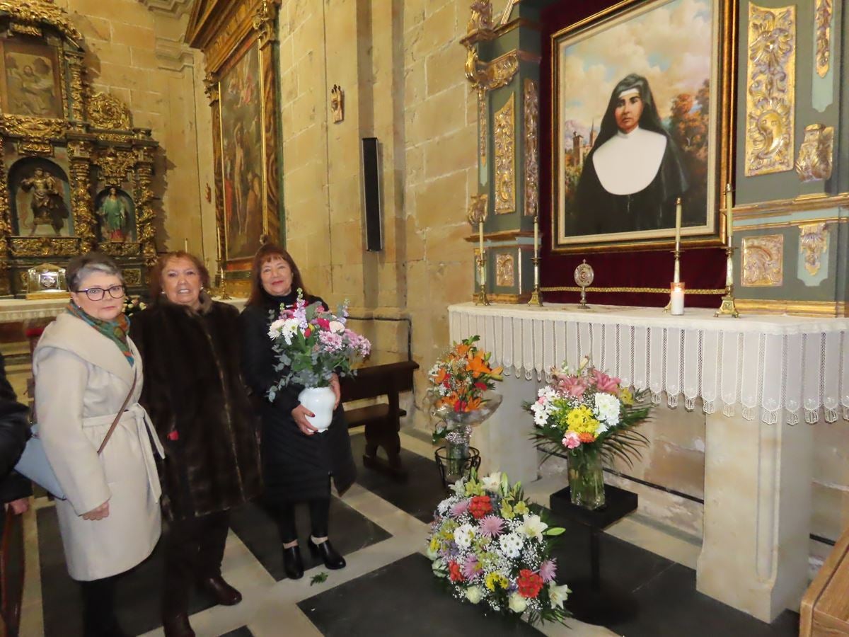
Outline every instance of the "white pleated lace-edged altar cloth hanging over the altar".
<path id="1" fill-rule="evenodd" d="M 652 402 L 734 415 L 758 412 L 767 424 L 779 418 L 815 423 L 819 409 L 834 422 L 849 420 L 849 318 L 743 316 L 714 318 L 713 310 L 688 308 L 670 316 L 656 307 L 552 304 L 448 307 L 453 341 L 481 336 L 481 347 L 506 373 L 543 380 L 553 366 L 572 369 L 582 357 L 649 390 Z M 530 397 L 529 397 L 530 398 Z"/>

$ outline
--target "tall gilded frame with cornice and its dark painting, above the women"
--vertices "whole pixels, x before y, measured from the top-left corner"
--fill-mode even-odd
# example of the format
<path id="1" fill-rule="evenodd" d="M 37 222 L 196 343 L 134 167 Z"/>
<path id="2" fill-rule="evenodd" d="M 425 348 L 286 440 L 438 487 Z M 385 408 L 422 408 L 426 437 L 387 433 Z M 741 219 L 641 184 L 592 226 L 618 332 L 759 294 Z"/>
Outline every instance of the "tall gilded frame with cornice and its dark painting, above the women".
<path id="1" fill-rule="evenodd" d="M 186 40 L 206 59 L 217 248 L 227 270 L 249 268 L 260 245 L 280 238 L 277 14 L 278 0 L 196 0 L 188 21 Z"/>

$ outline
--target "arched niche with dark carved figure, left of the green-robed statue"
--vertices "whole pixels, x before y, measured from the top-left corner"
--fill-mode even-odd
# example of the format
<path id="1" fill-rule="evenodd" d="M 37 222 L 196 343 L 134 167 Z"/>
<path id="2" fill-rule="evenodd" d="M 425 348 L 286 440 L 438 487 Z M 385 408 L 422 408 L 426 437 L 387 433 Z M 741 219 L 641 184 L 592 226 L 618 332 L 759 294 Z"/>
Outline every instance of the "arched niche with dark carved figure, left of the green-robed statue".
<path id="1" fill-rule="evenodd" d="M 42 158 L 17 161 L 8 174 L 12 231 L 19 236 L 70 237 L 70 184 L 61 166 Z"/>

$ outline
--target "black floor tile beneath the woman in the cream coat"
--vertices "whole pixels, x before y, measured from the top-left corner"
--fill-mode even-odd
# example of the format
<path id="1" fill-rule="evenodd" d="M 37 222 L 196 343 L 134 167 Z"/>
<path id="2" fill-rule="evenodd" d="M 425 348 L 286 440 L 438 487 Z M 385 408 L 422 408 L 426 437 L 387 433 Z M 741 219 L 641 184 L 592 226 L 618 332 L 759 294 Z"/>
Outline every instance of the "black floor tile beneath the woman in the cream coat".
<path id="1" fill-rule="evenodd" d="M 53 507 L 37 511 L 38 551 L 41 560 L 42 608 L 46 637 L 82 635 L 80 586 L 68 575 L 65 553 L 59 537 L 59 521 Z M 160 542 L 154 554 L 132 571 L 118 578 L 115 606 L 121 628 L 128 634 L 143 634 L 162 625 L 160 620 L 163 550 Z M 189 614 L 213 606 L 211 600 L 193 594 Z"/>

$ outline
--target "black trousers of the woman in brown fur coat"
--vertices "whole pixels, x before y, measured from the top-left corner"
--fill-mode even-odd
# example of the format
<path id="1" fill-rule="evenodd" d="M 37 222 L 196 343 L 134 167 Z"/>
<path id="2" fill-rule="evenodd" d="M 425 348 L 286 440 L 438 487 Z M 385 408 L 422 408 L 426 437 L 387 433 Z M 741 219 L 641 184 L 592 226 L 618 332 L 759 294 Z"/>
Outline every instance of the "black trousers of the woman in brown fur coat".
<path id="1" fill-rule="evenodd" d="M 171 521 L 165 536 L 164 613 L 170 616 L 187 612 L 192 585 L 221 575 L 229 526 L 227 511 Z"/>

